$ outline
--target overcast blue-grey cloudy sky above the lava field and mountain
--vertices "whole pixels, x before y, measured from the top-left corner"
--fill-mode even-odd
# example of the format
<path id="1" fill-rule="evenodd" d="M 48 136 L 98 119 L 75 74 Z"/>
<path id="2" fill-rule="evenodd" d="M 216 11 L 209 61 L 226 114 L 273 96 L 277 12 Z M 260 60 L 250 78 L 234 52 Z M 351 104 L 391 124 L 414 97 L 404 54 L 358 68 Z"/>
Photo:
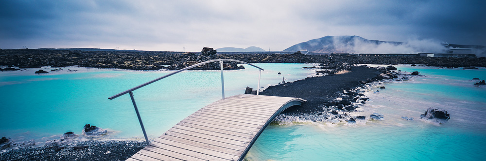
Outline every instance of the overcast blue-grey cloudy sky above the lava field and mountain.
<path id="1" fill-rule="evenodd" d="M 0 48 L 284 50 L 327 35 L 486 45 L 485 0 L 0 0 Z"/>

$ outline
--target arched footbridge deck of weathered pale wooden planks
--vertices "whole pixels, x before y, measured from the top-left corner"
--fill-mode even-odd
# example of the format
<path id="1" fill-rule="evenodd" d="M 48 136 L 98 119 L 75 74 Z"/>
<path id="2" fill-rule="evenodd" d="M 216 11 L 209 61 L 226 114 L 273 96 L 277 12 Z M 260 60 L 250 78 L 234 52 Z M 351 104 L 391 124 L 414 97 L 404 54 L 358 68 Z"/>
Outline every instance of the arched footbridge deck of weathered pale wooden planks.
<path id="1" fill-rule="evenodd" d="M 279 113 L 304 101 L 246 94 L 221 99 L 186 117 L 127 161 L 242 161 Z"/>

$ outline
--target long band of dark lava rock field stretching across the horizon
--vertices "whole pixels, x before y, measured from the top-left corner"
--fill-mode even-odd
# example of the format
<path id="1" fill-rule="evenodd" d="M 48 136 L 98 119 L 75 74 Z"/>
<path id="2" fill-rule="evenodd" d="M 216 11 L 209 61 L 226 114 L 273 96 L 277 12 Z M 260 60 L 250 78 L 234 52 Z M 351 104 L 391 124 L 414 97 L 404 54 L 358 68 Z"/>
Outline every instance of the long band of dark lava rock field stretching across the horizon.
<path id="1" fill-rule="evenodd" d="M 486 58 L 433 58 L 405 56 L 358 56 L 305 55 L 296 53 L 218 53 L 212 49 L 201 53 L 162 51 L 71 51 L 46 49 L 0 50 L 0 66 L 18 68 L 52 68 L 81 66 L 93 68 L 117 68 L 130 70 L 178 70 L 210 59 L 236 59 L 248 63 L 325 63 L 332 61 L 347 64 L 423 64 L 439 67 L 486 67 Z M 237 63 L 225 62 L 225 69 L 241 69 Z M 194 68 L 193 70 L 218 70 L 219 62 Z M 0 68 L 12 71 L 17 68 Z"/>

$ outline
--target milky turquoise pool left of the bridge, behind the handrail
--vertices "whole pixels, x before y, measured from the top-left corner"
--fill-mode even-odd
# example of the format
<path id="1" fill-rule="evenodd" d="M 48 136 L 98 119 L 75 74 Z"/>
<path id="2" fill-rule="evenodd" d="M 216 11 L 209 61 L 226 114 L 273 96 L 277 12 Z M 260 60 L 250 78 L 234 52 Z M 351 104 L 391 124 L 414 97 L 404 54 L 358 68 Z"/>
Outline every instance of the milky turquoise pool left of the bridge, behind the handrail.
<path id="1" fill-rule="evenodd" d="M 266 64 L 260 86 L 312 76 L 302 67 L 314 64 Z M 256 89 L 258 69 L 251 66 L 225 71 L 225 95 Z M 77 72 L 69 72 L 78 70 Z M 0 137 L 14 140 L 57 139 L 65 132 L 80 134 L 85 124 L 109 129 L 109 137 L 143 137 L 130 97 L 107 98 L 171 71 L 129 71 L 68 67 L 48 74 L 39 69 L 0 72 Z M 50 71 L 51 69 L 44 69 Z M 282 74 L 277 74 L 281 72 Z M 151 138 L 160 136 L 183 118 L 221 99 L 220 71 L 185 71 L 134 91 L 134 97 Z M 39 140 L 37 140 L 39 139 Z"/>

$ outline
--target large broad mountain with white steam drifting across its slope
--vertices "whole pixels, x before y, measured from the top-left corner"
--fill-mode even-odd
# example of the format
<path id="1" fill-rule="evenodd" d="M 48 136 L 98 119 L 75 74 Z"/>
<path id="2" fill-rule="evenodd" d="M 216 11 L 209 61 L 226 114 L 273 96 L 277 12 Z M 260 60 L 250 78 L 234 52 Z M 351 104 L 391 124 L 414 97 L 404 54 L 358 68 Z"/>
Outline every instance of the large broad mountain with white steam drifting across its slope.
<path id="1" fill-rule="evenodd" d="M 359 36 L 325 36 L 319 39 L 312 39 L 307 42 L 295 44 L 283 50 L 283 52 L 296 52 L 307 50 L 312 53 L 357 53 L 357 47 L 378 46 L 381 44 L 401 45 L 401 42 L 384 42 L 368 40 Z"/>

